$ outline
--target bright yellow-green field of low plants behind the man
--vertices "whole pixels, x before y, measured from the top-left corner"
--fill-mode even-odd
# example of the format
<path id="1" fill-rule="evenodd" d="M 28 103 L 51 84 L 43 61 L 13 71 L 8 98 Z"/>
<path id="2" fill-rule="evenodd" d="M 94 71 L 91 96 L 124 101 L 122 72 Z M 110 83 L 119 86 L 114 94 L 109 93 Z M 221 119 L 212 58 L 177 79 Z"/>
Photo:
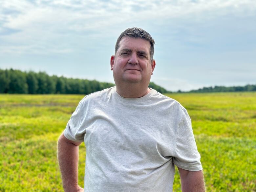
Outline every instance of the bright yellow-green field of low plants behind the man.
<path id="1" fill-rule="evenodd" d="M 256 93 L 170 94 L 188 111 L 207 191 L 256 191 Z M 83 95 L 0 95 L 0 191 L 63 191 L 57 139 Z M 79 146 L 83 186 L 85 146 Z M 177 169 L 176 169 L 177 170 Z M 181 191 L 176 171 L 173 191 Z"/>

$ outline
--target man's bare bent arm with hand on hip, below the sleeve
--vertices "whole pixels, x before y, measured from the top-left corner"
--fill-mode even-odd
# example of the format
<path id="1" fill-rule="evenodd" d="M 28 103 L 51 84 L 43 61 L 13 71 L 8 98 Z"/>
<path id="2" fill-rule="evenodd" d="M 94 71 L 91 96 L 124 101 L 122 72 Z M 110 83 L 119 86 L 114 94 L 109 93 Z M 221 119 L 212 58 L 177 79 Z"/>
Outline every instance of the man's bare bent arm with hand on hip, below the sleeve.
<path id="1" fill-rule="evenodd" d="M 62 133 L 58 139 L 58 161 L 65 192 L 82 192 L 78 185 L 78 146 L 81 142 L 67 139 Z"/>

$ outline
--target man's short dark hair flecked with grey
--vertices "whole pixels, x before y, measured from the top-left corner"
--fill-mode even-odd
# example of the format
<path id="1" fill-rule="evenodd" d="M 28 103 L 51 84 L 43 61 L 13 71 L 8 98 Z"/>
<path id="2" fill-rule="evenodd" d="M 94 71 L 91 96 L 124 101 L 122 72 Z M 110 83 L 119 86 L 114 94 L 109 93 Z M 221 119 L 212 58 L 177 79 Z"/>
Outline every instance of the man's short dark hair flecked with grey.
<path id="1" fill-rule="evenodd" d="M 117 53 L 117 49 L 119 47 L 119 42 L 121 41 L 122 37 L 124 37 L 124 36 L 141 38 L 141 39 L 145 39 L 145 40 L 149 41 L 150 42 L 150 58 L 151 58 L 151 61 L 153 60 L 153 55 L 155 52 L 155 49 L 154 49 L 155 41 L 148 32 L 146 32 L 145 30 L 140 29 L 138 27 L 128 28 L 127 30 L 125 30 L 124 32 L 122 32 L 120 34 L 120 36 L 117 38 L 115 54 Z"/>

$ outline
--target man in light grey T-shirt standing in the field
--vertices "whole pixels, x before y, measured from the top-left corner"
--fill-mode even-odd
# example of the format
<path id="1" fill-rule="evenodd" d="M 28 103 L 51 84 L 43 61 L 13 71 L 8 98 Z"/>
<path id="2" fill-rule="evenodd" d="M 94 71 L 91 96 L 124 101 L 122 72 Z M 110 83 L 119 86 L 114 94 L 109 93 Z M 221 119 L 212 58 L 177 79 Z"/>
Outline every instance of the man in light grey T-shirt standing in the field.
<path id="1" fill-rule="evenodd" d="M 66 192 L 169 192 L 174 165 L 182 191 L 204 181 L 187 111 L 148 88 L 156 66 L 154 40 L 140 28 L 117 39 L 110 65 L 116 87 L 85 96 L 58 140 Z M 84 189 L 77 184 L 78 145 L 86 145 Z"/>

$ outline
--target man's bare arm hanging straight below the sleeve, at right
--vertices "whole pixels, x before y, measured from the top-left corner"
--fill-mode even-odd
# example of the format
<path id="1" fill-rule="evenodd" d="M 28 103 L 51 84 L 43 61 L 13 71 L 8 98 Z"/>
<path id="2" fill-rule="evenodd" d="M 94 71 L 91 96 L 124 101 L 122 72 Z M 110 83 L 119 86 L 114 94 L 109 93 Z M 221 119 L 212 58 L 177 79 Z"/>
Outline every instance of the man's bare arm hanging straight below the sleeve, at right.
<path id="1" fill-rule="evenodd" d="M 188 171 L 178 167 L 182 192 L 204 192 L 203 170 Z"/>

